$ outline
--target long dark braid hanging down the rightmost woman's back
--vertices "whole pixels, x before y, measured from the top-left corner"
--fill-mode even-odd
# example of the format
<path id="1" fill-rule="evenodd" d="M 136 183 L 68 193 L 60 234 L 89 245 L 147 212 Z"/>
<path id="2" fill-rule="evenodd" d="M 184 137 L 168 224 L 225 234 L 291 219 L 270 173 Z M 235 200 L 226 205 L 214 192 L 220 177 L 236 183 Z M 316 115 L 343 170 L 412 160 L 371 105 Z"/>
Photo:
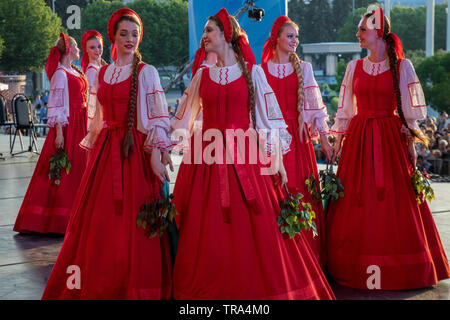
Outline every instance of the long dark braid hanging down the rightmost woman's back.
<path id="1" fill-rule="evenodd" d="M 373 13 L 367 13 L 365 14 L 363 17 L 364 18 L 369 18 L 373 15 Z M 387 53 L 388 53 L 388 57 L 389 57 L 389 68 L 392 72 L 392 79 L 394 82 L 394 90 L 395 90 L 395 97 L 397 100 L 397 112 L 398 115 L 400 117 L 400 120 L 402 121 L 402 124 L 405 126 L 405 128 L 407 128 L 410 132 L 410 134 L 420 140 L 421 142 L 423 142 L 426 146 L 428 146 L 428 140 L 427 138 L 421 133 L 418 132 L 417 130 L 411 129 L 408 126 L 408 123 L 406 122 L 405 119 L 405 115 L 403 113 L 403 105 L 402 105 L 402 96 L 401 96 L 401 92 L 400 92 L 400 84 L 399 84 L 399 80 L 398 80 L 398 73 L 397 73 L 397 65 L 399 62 L 398 57 L 397 57 L 397 53 L 395 52 L 395 42 L 394 39 L 392 38 L 391 35 L 391 23 L 389 21 L 389 19 L 384 16 L 384 31 L 383 31 L 383 40 L 386 42 L 386 46 L 387 46 Z"/>

